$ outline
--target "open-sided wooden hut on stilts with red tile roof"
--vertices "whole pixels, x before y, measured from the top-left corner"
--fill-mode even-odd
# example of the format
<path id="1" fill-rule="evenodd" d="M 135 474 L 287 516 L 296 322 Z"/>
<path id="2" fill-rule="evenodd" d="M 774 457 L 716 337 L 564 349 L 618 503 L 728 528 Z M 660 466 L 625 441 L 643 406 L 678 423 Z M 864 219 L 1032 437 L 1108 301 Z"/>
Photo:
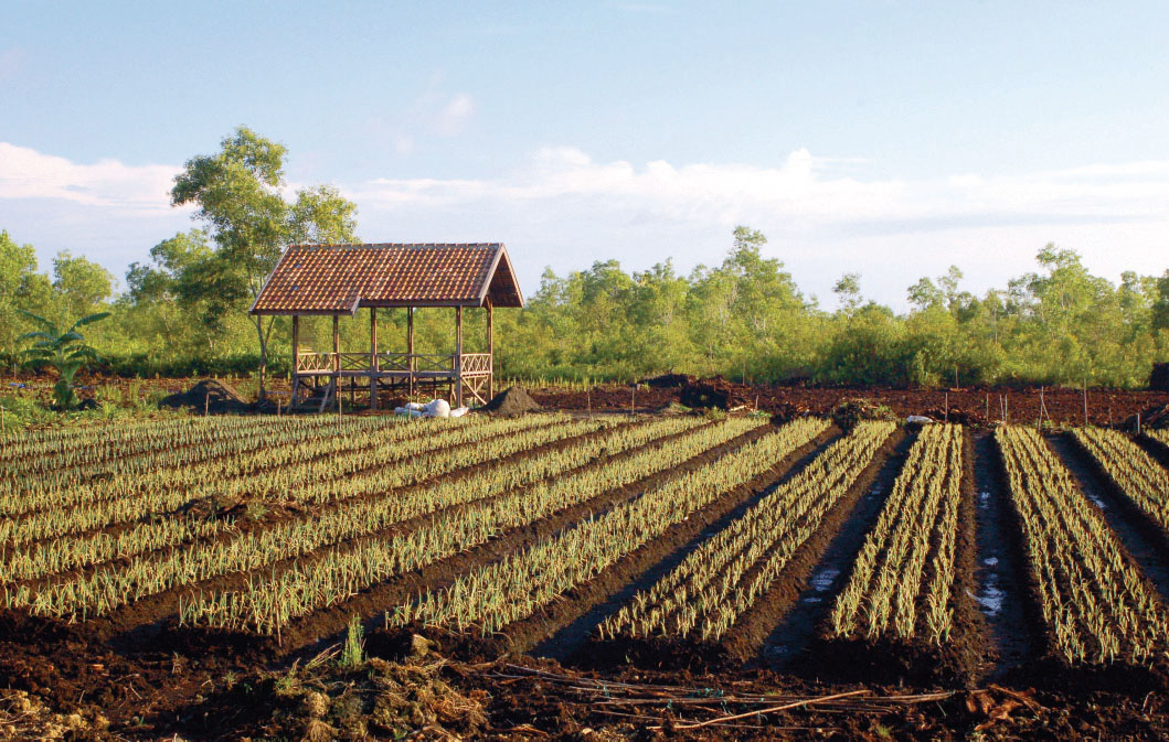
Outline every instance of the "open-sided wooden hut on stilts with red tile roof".
<path id="1" fill-rule="evenodd" d="M 320 410 L 348 384 L 351 393 L 369 390 L 378 407 L 379 391 L 413 394 L 430 382 L 447 385 L 451 402 L 485 402 L 494 394 L 494 322 L 497 307 L 523 307 L 507 249 L 498 243 L 292 245 L 264 281 L 253 314 L 292 317 L 292 399 L 320 394 Z M 404 308 L 406 352 L 378 348 L 378 310 Z M 414 310 L 455 310 L 452 354 L 414 352 Z M 463 309 L 486 312 L 486 352 L 465 352 Z M 338 320 L 369 310 L 369 351 L 340 352 Z M 333 317 L 332 351 L 300 348 L 302 315 Z"/>

